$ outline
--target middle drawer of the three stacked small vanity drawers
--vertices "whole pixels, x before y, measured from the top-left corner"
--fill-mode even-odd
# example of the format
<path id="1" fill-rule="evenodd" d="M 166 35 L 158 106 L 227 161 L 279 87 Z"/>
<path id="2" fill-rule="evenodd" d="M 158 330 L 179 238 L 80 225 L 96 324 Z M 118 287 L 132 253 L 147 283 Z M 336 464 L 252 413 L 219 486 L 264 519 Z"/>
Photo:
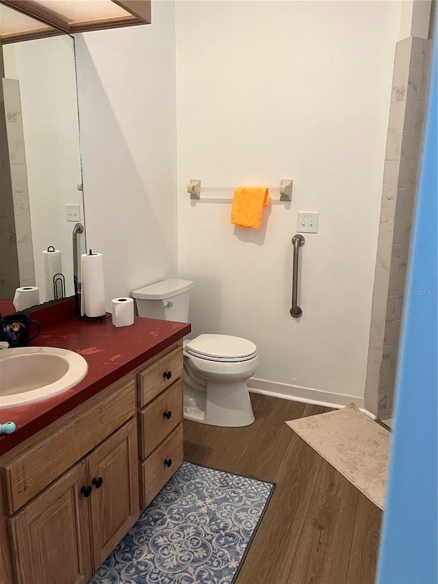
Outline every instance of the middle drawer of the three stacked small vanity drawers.
<path id="1" fill-rule="evenodd" d="M 145 459 L 183 421 L 183 380 L 178 379 L 138 412 L 140 459 Z"/>

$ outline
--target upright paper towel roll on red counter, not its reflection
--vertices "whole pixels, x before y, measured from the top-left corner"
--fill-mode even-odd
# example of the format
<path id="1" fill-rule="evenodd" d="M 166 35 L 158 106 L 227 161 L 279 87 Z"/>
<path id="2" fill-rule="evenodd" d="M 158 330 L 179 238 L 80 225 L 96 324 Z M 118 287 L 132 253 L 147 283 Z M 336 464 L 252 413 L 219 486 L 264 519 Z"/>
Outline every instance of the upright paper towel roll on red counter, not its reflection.
<path id="1" fill-rule="evenodd" d="M 105 316 L 103 255 L 91 250 L 81 255 L 81 314 L 91 318 Z"/>

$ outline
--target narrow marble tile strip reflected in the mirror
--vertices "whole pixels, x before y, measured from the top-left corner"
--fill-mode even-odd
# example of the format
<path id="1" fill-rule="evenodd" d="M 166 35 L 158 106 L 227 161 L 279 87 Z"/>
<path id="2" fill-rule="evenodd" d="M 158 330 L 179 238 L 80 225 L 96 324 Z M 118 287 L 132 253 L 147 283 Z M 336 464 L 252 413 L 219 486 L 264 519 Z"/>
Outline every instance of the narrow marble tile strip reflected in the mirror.
<path id="1" fill-rule="evenodd" d="M 34 249 L 32 244 L 29 190 L 23 121 L 21 116 L 18 79 L 3 79 L 6 131 L 10 158 L 12 201 L 18 254 L 18 272 L 21 286 L 35 285 Z"/>

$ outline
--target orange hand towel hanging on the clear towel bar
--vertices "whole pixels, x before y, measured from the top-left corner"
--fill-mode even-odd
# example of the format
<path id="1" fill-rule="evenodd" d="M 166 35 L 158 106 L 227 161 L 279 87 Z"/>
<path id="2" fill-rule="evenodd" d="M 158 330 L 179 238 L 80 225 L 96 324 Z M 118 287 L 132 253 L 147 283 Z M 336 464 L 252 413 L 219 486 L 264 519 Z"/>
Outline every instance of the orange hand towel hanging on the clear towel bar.
<path id="1" fill-rule="evenodd" d="M 263 207 L 269 203 L 269 192 L 266 187 L 239 186 L 234 191 L 233 207 L 231 207 L 231 223 L 236 227 L 253 227 L 259 229 Z"/>

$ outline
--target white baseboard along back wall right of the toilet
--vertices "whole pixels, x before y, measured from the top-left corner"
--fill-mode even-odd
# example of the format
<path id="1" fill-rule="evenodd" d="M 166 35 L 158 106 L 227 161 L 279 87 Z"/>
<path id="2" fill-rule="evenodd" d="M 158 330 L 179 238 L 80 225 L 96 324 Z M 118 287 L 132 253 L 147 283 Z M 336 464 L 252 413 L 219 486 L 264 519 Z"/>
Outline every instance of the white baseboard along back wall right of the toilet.
<path id="1" fill-rule="evenodd" d="M 322 392 L 310 388 L 301 388 L 299 385 L 287 385 L 286 383 L 277 383 L 276 381 L 266 381 L 266 379 L 248 379 L 248 390 L 255 394 L 263 394 L 301 403 L 313 403 L 325 407 L 339 409 L 354 403 L 363 411 L 364 414 L 372 418 L 370 412 L 363 409 L 363 397 L 349 396 L 345 394 L 335 394 L 331 392 Z M 374 417 L 374 419 L 376 419 Z"/>

